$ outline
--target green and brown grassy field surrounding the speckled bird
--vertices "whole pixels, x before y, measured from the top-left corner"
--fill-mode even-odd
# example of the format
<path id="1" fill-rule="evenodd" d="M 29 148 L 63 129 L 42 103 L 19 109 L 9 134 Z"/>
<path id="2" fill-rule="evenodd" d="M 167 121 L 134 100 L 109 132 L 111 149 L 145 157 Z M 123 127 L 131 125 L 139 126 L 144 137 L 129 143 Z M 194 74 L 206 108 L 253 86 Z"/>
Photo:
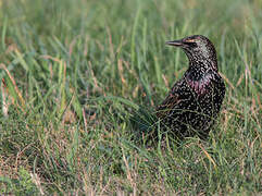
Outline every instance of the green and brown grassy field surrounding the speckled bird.
<path id="1" fill-rule="evenodd" d="M 0 195 L 262 194 L 261 21 L 261 0 L 0 0 Z M 164 42 L 192 34 L 226 82 L 216 126 L 138 143 L 187 69 Z"/>

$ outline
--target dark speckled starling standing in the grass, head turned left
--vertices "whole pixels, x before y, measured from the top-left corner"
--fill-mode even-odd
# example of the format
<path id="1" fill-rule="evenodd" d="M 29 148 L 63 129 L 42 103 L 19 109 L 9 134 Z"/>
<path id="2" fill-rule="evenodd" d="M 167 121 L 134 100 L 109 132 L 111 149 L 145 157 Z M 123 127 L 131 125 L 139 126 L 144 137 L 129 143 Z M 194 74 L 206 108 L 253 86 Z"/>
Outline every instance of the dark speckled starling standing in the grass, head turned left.
<path id="1" fill-rule="evenodd" d="M 161 126 L 178 138 L 207 138 L 221 110 L 225 84 L 217 71 L 213 44 L 202 35 L 166 42 L 182 48 L 189 68 L 157 108 Z"/>

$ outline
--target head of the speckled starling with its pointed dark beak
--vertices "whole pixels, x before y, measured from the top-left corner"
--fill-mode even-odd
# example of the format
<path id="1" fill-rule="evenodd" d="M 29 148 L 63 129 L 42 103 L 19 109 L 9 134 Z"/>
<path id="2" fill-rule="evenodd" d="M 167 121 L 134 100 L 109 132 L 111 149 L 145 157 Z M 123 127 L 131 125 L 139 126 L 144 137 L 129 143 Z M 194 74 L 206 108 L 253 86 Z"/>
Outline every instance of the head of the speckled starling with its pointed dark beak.
<path id="1" fill-rule="evenodd" d="M 202 35 L 194 35 L 179 40 L 166 41 L 166 45 L 183 48 L 190 63 L 207 63 L 217 70 L 215 48 L 213 44 Z"/>

